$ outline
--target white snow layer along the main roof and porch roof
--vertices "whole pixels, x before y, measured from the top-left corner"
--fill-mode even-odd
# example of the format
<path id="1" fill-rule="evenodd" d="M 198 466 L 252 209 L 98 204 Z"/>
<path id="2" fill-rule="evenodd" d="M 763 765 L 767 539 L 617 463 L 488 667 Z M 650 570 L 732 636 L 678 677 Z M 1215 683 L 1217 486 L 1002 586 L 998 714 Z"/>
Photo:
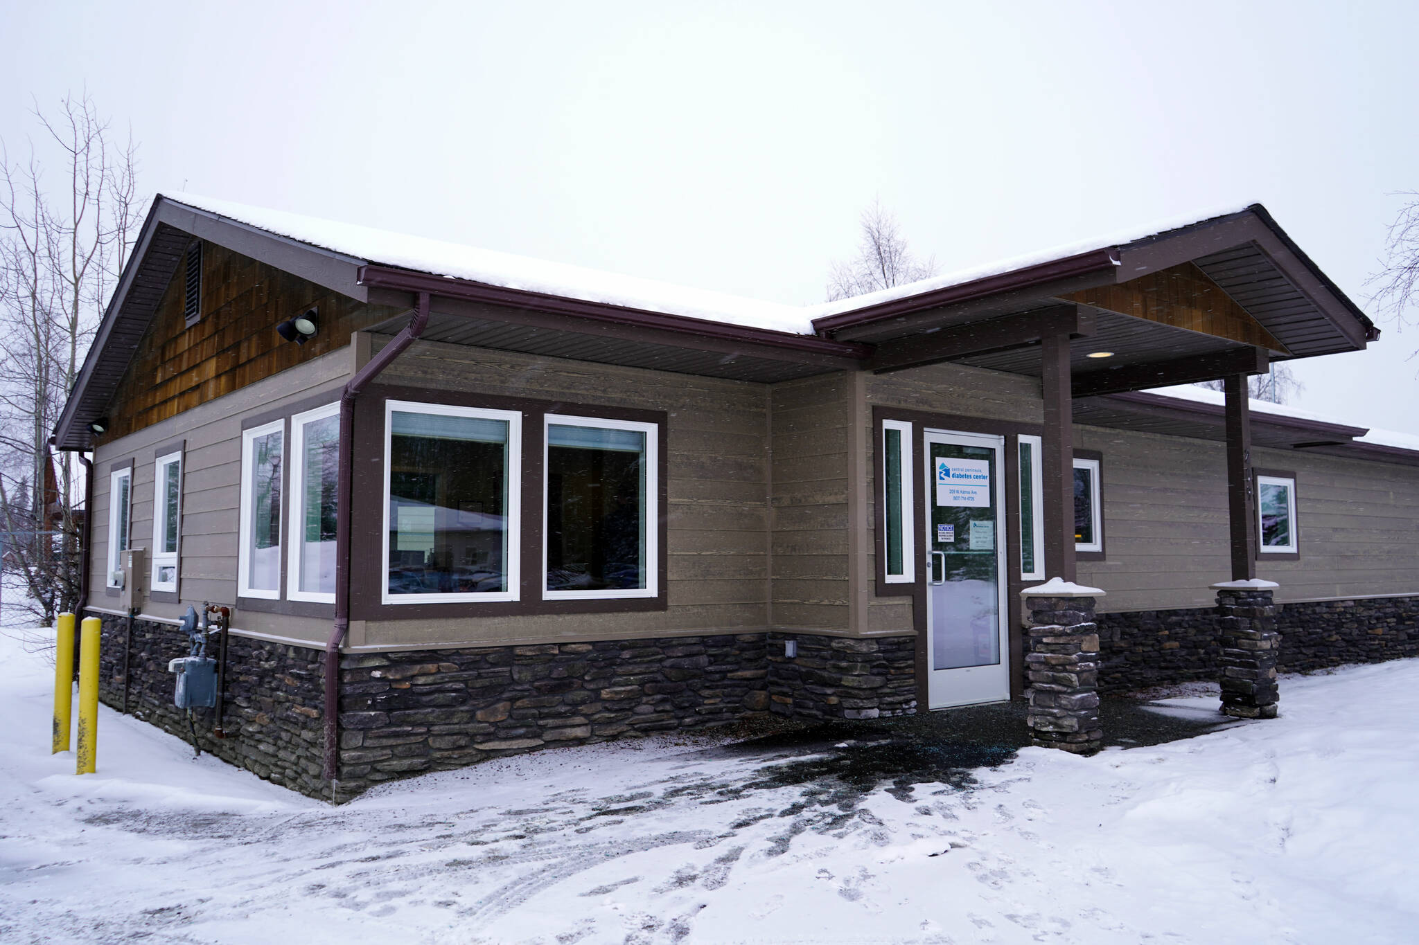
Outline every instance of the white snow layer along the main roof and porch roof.
<path id="1" fill-rule="evenodd" d="M 226 217 L 267 232 L 366 262 L 414 269 L 454 279 L 470 279 L 507 289 L 522 289 L 568 299 L 704 319 L 724 324 L 809 336 L 815 333 L 813 320 L 829 315 L 854 312 L 883 302 L 965 285 L 1056 259 L 1067 259 L 1083 252 L 1137 242 L 1138 239 L 1147 239 L 1148 237 L 1171 230 L 1179 230 L 1246 210 L 1246 205 L 1216 208 L 1200 215 L 1191 214 L 1182 218 L 1164 220 L 1147 227 L 1135 227 L 1121 232 L 1083 239 L 983 266 L 959 269 L 871 295 L 819 305 L 792 306 L 725 292 L 712 292 L 710 289 L 692 289 L 656 279 L 602 272 L 562 262 L 532 259 L 509 252 L 480 249 L 455 242 L 429 239 L 426 237 L 412 237 L 358 224 L 335 222 L 284 210 L 250 207 L 197 194 L 179 193 L 165 196 L 167 200 L 204 210 L 219 217 Z"/>

